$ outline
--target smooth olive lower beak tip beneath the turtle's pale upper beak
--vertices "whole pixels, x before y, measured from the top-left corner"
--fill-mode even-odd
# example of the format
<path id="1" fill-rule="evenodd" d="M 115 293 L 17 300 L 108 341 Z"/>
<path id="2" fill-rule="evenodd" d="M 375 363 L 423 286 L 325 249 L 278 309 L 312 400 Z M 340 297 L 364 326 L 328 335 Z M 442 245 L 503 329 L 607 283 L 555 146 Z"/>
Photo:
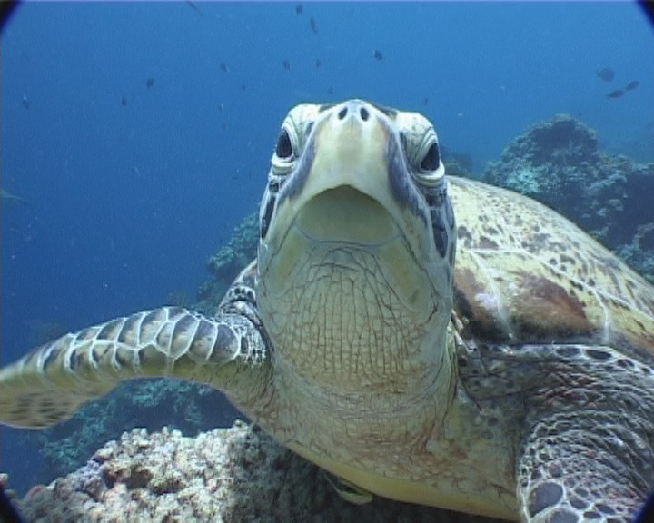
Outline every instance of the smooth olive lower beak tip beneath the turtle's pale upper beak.
<path id="1" fill-rule="evenodd" d="M 307 242 L 381 246 L 401 235 L 401 228 L 380 202 L 349 185 L 327 189 L 298 212 L 294 225 Z"/>

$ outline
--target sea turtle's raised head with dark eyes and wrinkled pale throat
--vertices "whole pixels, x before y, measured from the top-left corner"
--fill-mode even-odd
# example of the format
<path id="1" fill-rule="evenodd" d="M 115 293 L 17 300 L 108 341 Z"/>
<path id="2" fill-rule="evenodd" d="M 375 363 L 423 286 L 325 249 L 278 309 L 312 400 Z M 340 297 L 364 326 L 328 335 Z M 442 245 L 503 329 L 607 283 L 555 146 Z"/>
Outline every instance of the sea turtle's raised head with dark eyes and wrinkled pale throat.
<path id="1" fill-rule="evenodd" d="M 292 109 L 258 252 L 257 303 L 280 365 L 343 391 L 433 380 L 448 359 L 454 253 L 429 121 L 361 100 Z"/>

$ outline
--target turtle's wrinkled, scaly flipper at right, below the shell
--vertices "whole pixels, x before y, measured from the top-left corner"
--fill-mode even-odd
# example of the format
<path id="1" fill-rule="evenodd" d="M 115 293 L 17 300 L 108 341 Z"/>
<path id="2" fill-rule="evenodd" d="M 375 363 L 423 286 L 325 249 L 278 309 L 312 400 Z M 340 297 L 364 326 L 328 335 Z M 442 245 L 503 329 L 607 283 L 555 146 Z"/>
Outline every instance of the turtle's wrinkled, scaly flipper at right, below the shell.
<path id="1" fill-rule="evenodd" d="M 558 352 L 576 357 L 550 362 L 544 393 L 532 388 L 538 410 L 517 470 L 521 519 L 632 521 L 654 488 L 654 376 L 609 347 Z"/>

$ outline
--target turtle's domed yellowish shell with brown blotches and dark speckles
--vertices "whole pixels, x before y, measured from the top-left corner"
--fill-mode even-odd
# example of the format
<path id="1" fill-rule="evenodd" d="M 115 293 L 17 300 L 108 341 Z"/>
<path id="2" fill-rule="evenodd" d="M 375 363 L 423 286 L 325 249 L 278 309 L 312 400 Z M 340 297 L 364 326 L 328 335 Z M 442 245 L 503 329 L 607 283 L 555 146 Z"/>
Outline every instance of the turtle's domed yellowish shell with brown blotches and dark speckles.
<path id="1" fill-rule="evenodd" d="M 464 337 L 584 343 L 654 360 L 654 288 L 545 205 L 450 178 L 458 228 L 454 311 Z"/>

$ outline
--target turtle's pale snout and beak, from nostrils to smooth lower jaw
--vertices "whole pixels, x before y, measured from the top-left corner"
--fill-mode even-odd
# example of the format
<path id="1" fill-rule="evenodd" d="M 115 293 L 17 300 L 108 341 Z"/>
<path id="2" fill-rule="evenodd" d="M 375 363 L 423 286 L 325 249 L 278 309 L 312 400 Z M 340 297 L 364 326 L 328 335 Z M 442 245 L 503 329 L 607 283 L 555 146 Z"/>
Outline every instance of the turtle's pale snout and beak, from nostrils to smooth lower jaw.
<path id="1" fill-rule="evenodd" d="M 272 252 L 295 225 L 314 242 L 362 247 L 401 235 L 430 256 L 429 211 L 409 183 L 400 137 L 372 104 L 351 100 L 323 114 L 290 176 L 266 238 Z"/>

